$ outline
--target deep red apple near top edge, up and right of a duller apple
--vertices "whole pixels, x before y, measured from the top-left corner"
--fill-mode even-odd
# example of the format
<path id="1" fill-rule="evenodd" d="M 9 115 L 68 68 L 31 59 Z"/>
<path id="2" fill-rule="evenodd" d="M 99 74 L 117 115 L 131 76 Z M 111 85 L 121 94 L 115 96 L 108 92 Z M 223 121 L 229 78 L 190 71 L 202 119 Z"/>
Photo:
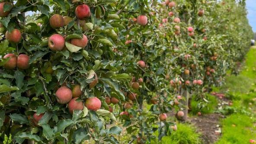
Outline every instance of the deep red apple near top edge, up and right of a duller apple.
<path id="1" fill-rule="evenodd" d="M 81 4 L 76 8 L 76 16 L 78 19 L 85 19 L 90 17 L 90 7 L 86 4 Z"/>

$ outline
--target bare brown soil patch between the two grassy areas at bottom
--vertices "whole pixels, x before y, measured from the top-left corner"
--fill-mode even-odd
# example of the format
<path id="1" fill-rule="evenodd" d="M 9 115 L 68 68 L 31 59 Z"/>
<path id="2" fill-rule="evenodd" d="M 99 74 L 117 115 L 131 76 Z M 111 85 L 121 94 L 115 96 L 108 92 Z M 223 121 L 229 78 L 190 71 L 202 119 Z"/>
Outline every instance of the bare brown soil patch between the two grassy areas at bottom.
<path id="1" fill-rule="evenodd" d="M 221 136 L 219 131 L 220 119 L 224 118 L 221 114 L 207 114 L 189 118 L 189 122 L 198 128 L 202 134 L 204 144 L 213 144 Z"/>

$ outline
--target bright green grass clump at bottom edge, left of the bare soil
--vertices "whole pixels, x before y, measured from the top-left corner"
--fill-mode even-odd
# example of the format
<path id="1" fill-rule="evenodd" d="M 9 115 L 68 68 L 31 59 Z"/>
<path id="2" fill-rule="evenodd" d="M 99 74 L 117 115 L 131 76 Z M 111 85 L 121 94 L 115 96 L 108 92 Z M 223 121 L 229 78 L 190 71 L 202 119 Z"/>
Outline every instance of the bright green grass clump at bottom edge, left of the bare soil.
<path id="1" fill-rule="evenodd" d="M 195 131 L 194 126 L 180 123 L 177 128 L 177 131 L 163 137 L 157 144 L 201 144 L 200 134 Z"/>

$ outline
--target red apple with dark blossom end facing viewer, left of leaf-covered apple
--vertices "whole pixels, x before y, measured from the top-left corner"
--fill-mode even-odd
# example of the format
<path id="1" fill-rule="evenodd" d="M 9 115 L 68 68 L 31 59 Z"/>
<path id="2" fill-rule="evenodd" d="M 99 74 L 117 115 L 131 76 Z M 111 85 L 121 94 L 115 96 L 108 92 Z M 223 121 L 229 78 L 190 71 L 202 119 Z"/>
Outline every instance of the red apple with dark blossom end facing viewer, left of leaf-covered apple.
<path id="1" fill-rule="evenodd" d="M 48 47 L 52 51 L 61 51 L 65 46 L 65 39 L 62 35 L 54 34 L 51 35 L 48 40 Z"/>

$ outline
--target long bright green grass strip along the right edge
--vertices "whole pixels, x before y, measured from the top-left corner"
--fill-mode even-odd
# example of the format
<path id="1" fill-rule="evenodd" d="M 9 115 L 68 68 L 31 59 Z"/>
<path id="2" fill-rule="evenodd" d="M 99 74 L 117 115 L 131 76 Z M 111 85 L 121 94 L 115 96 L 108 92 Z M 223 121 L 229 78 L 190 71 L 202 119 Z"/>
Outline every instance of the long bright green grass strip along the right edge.
<path id="1" fill-rule="evenodd" d="M 226 85 L 220 89 L 228 91 L 227 97 L 232 99 L 233 105 L 226 109 L 233 109 L 234 113 L 221 122 L 223 134 L 216 144 L 248 144 L 250 139 L 256 138 L 255 55 L 256 47 L 247 54 L 240 75 L 228 77 Z"/>

